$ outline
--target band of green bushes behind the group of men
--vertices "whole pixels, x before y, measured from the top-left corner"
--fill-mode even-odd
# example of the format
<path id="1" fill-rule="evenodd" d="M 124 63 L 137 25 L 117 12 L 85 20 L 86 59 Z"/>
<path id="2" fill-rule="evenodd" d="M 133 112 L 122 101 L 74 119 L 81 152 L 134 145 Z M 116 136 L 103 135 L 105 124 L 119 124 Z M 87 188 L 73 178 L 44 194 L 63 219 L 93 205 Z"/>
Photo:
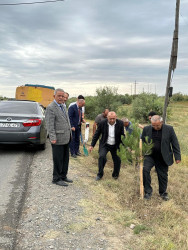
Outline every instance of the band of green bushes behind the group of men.
<path id="1" fill-rule="evenodd" d="M 86 118 L 93 120 L 106 108 L 115 111 L 118 117 L 126 116 L 139 122 L 146 122 L 151 110 L 162 115 L 164 98 L 147 93 L 123 95 L 117 91 L 116 87 L 105 86 L 96 89 L 96 96 L 86 96 Z M 76 98 L 70 98 L 67 104 L 73 101 L 76 101 Z"/>

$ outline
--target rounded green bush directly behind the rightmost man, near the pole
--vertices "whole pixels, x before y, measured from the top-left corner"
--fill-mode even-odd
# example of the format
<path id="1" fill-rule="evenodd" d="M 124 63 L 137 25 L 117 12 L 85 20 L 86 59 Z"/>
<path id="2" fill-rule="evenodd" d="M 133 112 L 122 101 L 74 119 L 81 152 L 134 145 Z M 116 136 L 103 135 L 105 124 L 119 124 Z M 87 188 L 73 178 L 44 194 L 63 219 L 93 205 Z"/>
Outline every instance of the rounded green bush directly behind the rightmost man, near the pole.
<path id="1" fill-rule="evenodd" d="M 142 93 L 132 103 L 132 117 L 140 122 L 148 121 L 148 113 L 153 110 L 158 115 L 163 113 L 163 100 L 155 94 Z"/>

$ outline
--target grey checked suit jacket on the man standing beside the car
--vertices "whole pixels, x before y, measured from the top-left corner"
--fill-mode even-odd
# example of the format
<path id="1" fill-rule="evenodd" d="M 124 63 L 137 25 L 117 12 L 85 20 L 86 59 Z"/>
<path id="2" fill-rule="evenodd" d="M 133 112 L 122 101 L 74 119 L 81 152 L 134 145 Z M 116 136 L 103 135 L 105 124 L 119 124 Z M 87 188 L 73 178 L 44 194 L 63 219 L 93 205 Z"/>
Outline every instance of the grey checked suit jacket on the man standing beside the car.
<path id="1" fill-rule="evenodd" d="M 71 137 L 69 117 L 53 101 L 46 108 L 46 125 L 50 141 L 56 140 L 56 145 L 68 144 Z"/>

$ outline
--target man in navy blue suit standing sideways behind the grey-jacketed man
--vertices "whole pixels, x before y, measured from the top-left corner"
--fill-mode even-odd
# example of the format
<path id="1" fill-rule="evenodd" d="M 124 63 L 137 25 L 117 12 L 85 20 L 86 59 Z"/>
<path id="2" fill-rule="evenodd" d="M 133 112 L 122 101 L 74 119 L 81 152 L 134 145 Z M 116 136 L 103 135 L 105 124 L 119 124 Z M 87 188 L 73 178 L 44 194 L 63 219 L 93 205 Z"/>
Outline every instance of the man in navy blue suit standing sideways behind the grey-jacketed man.
<path id="1" fill-rule="evenodd" d="M 80 146 L 80 132 L 81 124 L 84 122 L 82 118 L 82 107 L 85 105 L 85 98 L 79 95 L 77 102 L 71 105 L 68 109 L 71 129 L 72 129 L 72 140 L 70 142 L 70 152 L 73 158 L 81 155 L 79 152 Z"/>

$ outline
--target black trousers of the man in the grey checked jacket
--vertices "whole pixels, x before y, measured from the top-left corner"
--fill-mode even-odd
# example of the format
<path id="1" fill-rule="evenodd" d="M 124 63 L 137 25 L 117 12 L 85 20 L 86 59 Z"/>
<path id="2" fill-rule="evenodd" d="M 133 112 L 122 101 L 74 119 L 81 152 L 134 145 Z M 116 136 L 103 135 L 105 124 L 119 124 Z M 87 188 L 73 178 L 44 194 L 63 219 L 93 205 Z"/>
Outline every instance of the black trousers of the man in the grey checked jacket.
<path id="1" fill-rule="evenodd" d="M 69 144 L 52 144 L 53 155 L 53 181 L 59 181 L 67 177 L 69 166 Z"/>

